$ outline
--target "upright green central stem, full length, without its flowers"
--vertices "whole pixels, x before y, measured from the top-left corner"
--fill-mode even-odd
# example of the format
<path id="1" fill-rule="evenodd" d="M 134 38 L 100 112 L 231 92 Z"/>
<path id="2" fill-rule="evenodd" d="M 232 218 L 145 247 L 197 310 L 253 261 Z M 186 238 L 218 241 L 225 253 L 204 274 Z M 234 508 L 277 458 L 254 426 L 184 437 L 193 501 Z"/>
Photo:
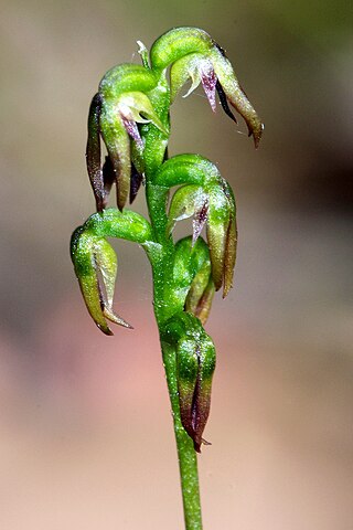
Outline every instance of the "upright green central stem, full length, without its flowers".
<path id="1" fill-rule="evenodd" d="M 150 93 L 150 98 L 159 118 L 169 129 L 170 92 L 164 75 L 161 76 L 156 91 Z M 173 279 L 175 247 L 172 237 L 167 235 L 165 208 L 169 192 L 168 188 L 154 184 L 156 173 L 165 157 L 168 141 L 156 127 L 147 125 L 143 126 L 143 129 L 146 138 L 146 202 L 154 241 L 159 245 L 154 257 L 150 259 L 153 274 L 153 306 L 161 337 L 162 358 L 173 415 L 185 530 L 202 530 L 196 452 L 193 441 L 181 423 L 175 348 L 162 340 L 165 322 L 173 315 L 184 309 L 184 299 L 175 294 Z"/>

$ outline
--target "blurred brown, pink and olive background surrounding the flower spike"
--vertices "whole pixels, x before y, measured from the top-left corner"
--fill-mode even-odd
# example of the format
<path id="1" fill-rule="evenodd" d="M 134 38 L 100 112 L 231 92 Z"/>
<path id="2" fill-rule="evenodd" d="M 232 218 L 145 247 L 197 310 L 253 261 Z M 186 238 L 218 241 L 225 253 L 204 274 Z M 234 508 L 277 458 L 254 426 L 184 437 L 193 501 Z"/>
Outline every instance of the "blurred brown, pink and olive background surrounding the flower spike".
<path id="1" fill-rule="evenodd" d="M 92 95 L 174 25 L 226 49 L 265 121 L 258 151 L 202 91 L 172 109 L 170 153 L 234 187 L 235 288 L 199 458 L 204 528 L 353 528 L 352 10 L 350 2 L 1 2 L 0 528 L 182 528 L 170 409 L 142 251 L 118 242 L 103 336 L 68 256 L 94 211 Z M 240 120 L 239 120 L 240 121 Z M 143 193 L 136 209 L 145 211 Z M 188 226 L 186 226 L 188 227 Z M 190 229 L 190 225 L 189 225 Z"/>

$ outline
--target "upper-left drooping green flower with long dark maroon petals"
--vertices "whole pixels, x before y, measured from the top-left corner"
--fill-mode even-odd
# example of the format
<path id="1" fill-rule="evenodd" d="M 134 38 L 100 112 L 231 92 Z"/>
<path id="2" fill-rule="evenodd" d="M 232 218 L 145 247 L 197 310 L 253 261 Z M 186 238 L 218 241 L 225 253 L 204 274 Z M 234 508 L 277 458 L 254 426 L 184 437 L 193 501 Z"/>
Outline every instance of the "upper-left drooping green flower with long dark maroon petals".
<path id="1" fill-rule="evenodd" d="M 156 85 L 156 76 L 143 66 L 122 64 L 104 76 L 92 100 L 86 159 L 97 211 L 106 208 L 113 181 L 117 184 L 117 204 L 121 211 L 131 192 L 132 165 L 142 171 L 145 144 L 138 124 L 152 123 L 168 135 L 145 94 Z M 101 167 L 100 136 L 111 162 L 109 171 Z"/>

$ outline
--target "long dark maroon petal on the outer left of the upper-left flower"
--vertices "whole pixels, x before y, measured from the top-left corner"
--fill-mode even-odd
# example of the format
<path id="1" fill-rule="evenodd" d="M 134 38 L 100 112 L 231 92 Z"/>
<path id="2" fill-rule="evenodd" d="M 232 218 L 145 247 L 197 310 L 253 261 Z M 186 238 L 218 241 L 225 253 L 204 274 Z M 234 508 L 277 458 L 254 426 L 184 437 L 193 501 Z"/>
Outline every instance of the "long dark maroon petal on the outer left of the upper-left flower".
<path id="1" fill-rule="evenodd" d="M 90 186 L 98 211 L 105 208 L 105 191 L 100 165 L 99 117 L 101 113 L 101 96 L 96 94 L 90 103 L 88 114 L 88 138 L 86 147 L 86 163 Z"/>

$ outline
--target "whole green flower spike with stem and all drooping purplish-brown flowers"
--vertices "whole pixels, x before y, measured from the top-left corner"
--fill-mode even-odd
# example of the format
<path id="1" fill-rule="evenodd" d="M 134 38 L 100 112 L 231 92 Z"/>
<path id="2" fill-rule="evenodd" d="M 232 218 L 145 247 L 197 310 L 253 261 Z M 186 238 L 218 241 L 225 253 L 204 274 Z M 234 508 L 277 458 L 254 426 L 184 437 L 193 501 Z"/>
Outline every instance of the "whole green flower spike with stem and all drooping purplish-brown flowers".
<path id="1" fill-rule="evenodd" d="M 206 32 L 173 29 L 153 43 L 150 53 L 138 44 L 142 65 L 121 64 L 108 71 L 90 104 L 86 161 L 96 213 L 74 232 L 71 255 L 89 315 L 104 333 L 113 335 L 108 322 L 132 326 L 114 309 L 118 263 L 107 237 L 136 242 L 146 251 L 152 267 L 185 529 L 201 530 L 196 454 L 208 445 L 203 432 L 215 369 L 215 347 L 204 325 L 215 292 L 223 288 L 225 297 L 233 286 L 236 208 L 229 184 L 210 160 L 200 155 L 168 158 L 170 106 L 190 81 L 185 96 L 201 84 L 213 112 L 218 96 L 221 107 L 235 120 L 233 106 L 246 121 L 255 147 L 263 125 L 224 51 Z M 141 183 L 149 221 L 126 208 Z M 114 186 L 117 208 L 108 209 Z M 192 235 L 174 242 L 175 224 L 188 218 L 192 218 Z"/>

